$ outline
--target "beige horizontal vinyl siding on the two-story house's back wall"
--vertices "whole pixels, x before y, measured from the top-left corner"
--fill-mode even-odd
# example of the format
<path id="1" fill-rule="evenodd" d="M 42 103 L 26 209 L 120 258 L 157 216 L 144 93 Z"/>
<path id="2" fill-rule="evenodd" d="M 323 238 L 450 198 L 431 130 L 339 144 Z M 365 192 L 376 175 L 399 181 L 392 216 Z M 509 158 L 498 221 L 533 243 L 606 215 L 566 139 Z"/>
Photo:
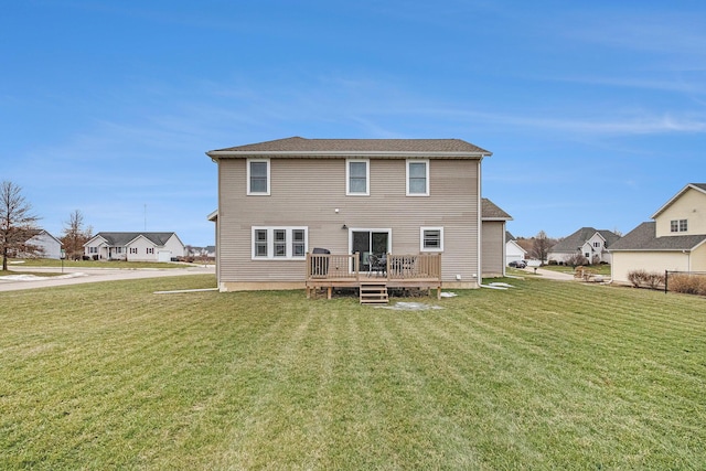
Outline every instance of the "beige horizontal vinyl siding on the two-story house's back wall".
<path id="1" fill-rule="evenodd" d="M 345 195 L 345 159 L 270 158 L 270 195 L 247 196 L 246 160 L 220 160 L 220 282 L 301 281 L 302 260 L 252 260 L 252 226 L 307 226 L 308 251 L 349 251 L 349 231 L 392 229 L 395 254 L 419 253 L 419 227 L 443 227 L 443 280 L 478 275 L 477 160 L 430 160 L 429 196 L 406 196 L 406 161 L 370 159 L 370 196 Z M 339 208 L 336 213 L 335 210 Z"/>

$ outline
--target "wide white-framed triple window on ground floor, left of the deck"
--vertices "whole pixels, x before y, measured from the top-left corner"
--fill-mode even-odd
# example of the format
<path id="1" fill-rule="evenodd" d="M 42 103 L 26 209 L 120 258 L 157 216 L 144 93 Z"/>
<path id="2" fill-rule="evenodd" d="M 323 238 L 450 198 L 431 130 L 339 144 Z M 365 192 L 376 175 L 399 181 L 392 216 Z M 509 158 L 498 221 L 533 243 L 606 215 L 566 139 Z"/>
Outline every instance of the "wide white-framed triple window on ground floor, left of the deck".
<path id="1" fill-rule="evenodd" d="M 307 237 L 307 227 L 253 227 L 253 259 L 302 259 Z"/>

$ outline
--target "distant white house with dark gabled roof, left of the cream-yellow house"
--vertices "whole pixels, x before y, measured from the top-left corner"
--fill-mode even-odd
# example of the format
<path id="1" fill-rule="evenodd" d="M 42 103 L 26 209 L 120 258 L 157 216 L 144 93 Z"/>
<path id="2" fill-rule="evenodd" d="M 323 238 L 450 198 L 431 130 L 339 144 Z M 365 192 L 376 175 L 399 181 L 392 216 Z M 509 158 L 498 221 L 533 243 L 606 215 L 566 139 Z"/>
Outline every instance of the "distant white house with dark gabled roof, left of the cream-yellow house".
<path id="1" fill-rule="evenodd" d="M 581 227 L 568 237 L 563 238 L 547 254 L 548 261 L 566 263 L 570 257 L 580 254 L 589 264 L 610 264 L 610 247 L 620 239 L 611 231 L 597 231 L 592 227 Z"/>

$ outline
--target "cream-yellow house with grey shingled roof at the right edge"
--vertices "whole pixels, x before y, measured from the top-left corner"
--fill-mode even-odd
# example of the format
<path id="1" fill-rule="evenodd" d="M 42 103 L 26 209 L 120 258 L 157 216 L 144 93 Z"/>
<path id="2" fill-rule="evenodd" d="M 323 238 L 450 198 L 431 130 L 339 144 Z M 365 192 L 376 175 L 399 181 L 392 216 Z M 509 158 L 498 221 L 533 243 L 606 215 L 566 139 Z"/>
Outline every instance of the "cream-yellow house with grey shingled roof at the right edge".
<path id="1" fill-rule="evenodd" d="M 651 218 L 610 247 L 614 282 L 638 269 L 706 271 L 706 183 L 687 184 Z"/>

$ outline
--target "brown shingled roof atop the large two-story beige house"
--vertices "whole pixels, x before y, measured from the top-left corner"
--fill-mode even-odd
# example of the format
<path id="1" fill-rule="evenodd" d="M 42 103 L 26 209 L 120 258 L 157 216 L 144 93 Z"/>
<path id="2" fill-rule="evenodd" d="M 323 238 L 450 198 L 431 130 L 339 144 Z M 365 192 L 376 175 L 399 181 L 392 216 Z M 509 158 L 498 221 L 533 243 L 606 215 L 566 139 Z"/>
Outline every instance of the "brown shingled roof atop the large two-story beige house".
<path id="1" fill-rule="evenodd" d="M 206 152 L 211 158 L 243 158 L 277 154 L 278 157 L 331 157 L 349 154 L 480 158 L 492 156 L 461 139 L 306 139 L 291 137 Z"/>

